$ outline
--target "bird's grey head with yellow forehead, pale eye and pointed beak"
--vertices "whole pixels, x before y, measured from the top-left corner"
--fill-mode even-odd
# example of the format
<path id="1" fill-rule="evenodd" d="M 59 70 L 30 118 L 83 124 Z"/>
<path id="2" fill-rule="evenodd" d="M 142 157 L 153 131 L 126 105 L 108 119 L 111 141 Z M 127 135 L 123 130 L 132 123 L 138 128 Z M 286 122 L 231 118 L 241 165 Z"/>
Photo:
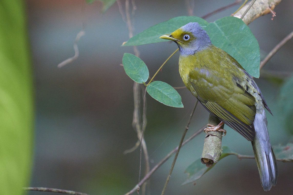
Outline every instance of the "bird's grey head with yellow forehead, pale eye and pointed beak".
<path id="1" fill-rule="evenodd" d="M 197 22 L 188 23 L 171 34 L 163 35 L 160 38 L 176 42 L 181 55 L 195 54 L 212 44 L 207 32 Z"/>

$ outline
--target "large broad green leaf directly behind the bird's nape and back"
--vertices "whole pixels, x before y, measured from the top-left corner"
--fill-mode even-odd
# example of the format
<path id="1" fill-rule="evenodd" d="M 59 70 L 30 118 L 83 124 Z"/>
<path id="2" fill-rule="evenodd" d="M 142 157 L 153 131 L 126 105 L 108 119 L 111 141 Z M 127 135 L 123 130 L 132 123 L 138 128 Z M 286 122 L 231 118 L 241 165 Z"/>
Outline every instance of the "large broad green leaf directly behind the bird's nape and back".
<path id="1" fill-rule="evenodd" d="M 230 54 L 253 77 L 259 77 L 260 49 L 249 27 L 239 18 L 228 16 L 204 28 L 212 44 Z"/>

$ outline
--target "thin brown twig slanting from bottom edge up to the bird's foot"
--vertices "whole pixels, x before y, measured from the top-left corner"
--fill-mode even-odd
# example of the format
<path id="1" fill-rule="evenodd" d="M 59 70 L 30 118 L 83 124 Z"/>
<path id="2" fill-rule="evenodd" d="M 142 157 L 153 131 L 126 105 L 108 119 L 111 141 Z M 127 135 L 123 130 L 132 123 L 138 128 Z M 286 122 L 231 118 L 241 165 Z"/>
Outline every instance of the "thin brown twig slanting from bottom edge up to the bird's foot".
<path id="1" fill-rule="evenodd" d="M 198 131 L 196 131 L 192 136 L 190 136 L 188 139 L 186 139 L 182 146 L 184 146 L 185 144 L 187 144 L 190 140 L 192 140 L 193 138 L 195 138 L 198 134 L 200 134 L 201 132 L 203 132 L 204 128 L 206 127 L 207 125 L 203 126 L 202 128 L 200 128 Z M 151 175 L 154 174 L 154 172 L 156 170 L 158 170 L 161 165 L 163 165 L 175 152 L 177 152 L 178 150 L 178 146 L 173 149 L 171 152 L 169 152 L 158 164 L 156 164 L 154 166 L 154 168 L 152 168 L 152 170 L 150 172 L 147 173 L 147 175 L 144 176 L 144 178 L 140 181 L 140 185 L 143 184 L 144 182 L 146 182 L 150 177 Z M 130 190 L 129 192 L 127 192 L 125 195 L 130 195 L 132 193 L 134 193 L 136 191 L 138 187 L 138 184 L 136 186 L 134 186 L 134 188 L 132 190 Z"/>

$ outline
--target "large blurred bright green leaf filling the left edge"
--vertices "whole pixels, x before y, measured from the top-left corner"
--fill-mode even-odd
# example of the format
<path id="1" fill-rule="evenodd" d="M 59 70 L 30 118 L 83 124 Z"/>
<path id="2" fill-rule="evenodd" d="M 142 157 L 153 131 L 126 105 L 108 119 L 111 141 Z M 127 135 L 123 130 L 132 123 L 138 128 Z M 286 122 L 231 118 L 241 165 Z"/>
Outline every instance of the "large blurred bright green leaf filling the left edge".
<path id="1" fill-rule="evenodd" d="M 25 1 L 0 3 L 0 194 L 23 194 L 33 143 L 33 82 Z"/>

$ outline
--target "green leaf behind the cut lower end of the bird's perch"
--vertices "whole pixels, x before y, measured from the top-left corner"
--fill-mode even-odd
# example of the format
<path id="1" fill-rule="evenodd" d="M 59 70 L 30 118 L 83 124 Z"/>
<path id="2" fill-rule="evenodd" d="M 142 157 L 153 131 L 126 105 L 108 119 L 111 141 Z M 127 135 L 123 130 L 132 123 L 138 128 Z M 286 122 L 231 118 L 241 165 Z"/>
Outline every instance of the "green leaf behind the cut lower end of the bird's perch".
<path id="1" fill-rule="evenodd" d="M 225 158 L 226 156 L 229 155 L 237 155 L 235 152 L 231 152 L 229 147 L 223 146 L 223 153 L 219 158 L 219 161 Z M 219 162 L 218 161 L 218 162 Z M 209 170 L 211 170 L 217 163 L 214 163 L 210 168 L 207 168 L 204 164 L 201 163 L 200 158 L 194 161 L 191 165 L 188 166 L 188 168 L 185 170 L 185 173 L 188 175 L 188 179 L 182 184 L 189 184 L 193 183 L 196 180 L 199 180 L 205 173 L 207 173 Z"/>

